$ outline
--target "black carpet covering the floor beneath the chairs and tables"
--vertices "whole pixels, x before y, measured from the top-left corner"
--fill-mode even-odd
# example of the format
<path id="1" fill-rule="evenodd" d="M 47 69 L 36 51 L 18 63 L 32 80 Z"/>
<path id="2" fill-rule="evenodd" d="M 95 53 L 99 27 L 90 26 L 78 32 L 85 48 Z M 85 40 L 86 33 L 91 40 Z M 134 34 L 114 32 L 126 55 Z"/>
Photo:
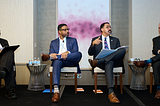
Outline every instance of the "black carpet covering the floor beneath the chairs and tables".
<path id="1" fill-rule="evenodd" d="M 115 89 L 117 97 L 121 101 L 120 104 L 112 104 L 107 97 L 107 86 L 98 86 L 98 89 L 103 91 L 103 94 L 94 94 L 94 86 L 78 86 L 85 91 L 74 93 L 74 86 L 66 86 L 58 103 L 52 103 L 52 94 L 42 93 L 42 91 L 29 91 L 28 86 L 18 85 L 16 89 L 17 99 L 10 100 L 5 97 L 5 88 L 0 89 L 0 106 L 138 106 L 131 96 L 123 90 L 120 94 L 118 86 Z M 126 86 L 129 89 L 129 86 Z M 46 86 L 49 88 L 49 86 Z M 155 87 L 153 87 L 154 89 Z M 129 89 L 136 97 L 138 97 L 146 106 L 160 106 L 160 100 L 154 99 L 155 91 L 149 93 L 149 89 L 144 91 L 135 91 Z M 158 105 L 159 104 L 159 105 Z"/>

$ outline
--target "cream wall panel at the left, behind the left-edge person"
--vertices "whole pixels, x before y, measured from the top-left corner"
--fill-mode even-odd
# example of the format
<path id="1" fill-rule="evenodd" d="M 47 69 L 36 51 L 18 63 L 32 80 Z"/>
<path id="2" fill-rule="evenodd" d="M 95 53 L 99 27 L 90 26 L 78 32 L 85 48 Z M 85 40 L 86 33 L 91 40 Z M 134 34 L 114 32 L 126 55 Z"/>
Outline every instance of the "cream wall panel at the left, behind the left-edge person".
<path id="1" fill-rule="evenodd" d="M 34 0 L 0 0 L 1 37 L 10 45 L 20 44 L 15 60 L 28 62 L 33 58 Z"/>

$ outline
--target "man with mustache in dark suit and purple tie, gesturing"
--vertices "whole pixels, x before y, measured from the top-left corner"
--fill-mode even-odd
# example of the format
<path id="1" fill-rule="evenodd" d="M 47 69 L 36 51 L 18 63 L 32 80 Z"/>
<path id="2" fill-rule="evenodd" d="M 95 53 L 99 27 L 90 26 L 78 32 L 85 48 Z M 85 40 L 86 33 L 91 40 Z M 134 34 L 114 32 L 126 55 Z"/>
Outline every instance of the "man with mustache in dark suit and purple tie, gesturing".
<path id="1" fill-rule="evenodd" d="M 110 36 L 111 34 L 111 26 L 108 22 L 102 23 L 100 26 L 100 31 L 102 35 L 94 37 L 92 39 L 91 45 L 88 49 L 88 54 L 93 55 L 93 59 L 89 59 L 89 63 L 92 68 L 99 67 L 105 70 L 105 76 L 107 80 L 107 87 L 108 87 L 108 99 L 112 103 L 120 103 L 116 95 L 113 91 L 113 67 L 123 66 L 123 58 L 125 55 L 125 49 L 121 48 L 118 49 L 116 52 L 102 58 L 102 59 L 95 59 L 95 57 L 99 54 L 102 49 L 117 49 L 120 47 L 120 41 L 118 38 Z M 124 70 L 123 70 L 124 72 Z"/>

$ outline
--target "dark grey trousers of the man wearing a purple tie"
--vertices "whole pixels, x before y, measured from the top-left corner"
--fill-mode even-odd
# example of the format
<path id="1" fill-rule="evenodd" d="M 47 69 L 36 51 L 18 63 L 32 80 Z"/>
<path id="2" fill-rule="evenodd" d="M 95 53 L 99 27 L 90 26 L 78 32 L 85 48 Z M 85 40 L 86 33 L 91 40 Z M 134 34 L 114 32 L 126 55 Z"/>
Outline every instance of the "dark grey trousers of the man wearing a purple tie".
<path id="1" fill-rule="evenodd" d="M 116 52 L 104 57 L 104 63 L 98 64 L 98 67 L 105 70 L 107 80 L 107 87 L 114 87 L 113 85 L 113 67 L 122 66 L 123 58 L 125 56 L 125 49 L 119 49 Z"/>

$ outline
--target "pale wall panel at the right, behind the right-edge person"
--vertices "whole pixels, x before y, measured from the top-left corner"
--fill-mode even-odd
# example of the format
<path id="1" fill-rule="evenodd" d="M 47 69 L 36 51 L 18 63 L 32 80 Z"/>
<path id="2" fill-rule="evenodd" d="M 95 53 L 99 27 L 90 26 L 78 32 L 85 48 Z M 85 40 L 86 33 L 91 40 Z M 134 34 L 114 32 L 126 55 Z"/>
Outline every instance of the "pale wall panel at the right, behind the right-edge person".
<path id="1" fill-rule="evenodd" d="M 159 0 L 132 0 L 132 57 L 149 59 L 152 38 L 158 35 Z"/>

